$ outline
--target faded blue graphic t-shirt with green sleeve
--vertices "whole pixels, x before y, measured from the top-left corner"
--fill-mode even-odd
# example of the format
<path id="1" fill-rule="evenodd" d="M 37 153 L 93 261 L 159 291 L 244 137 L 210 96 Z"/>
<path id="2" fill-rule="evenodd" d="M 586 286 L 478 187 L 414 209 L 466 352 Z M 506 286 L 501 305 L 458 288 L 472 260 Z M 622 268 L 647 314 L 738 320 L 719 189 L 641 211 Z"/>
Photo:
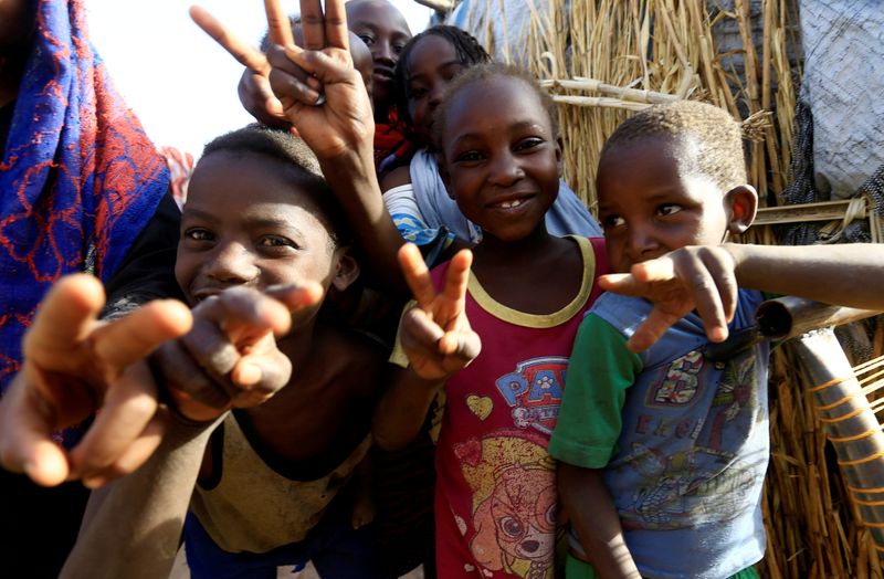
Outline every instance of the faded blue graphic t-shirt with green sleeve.
<path id="1" fill-rule="evenodd" d="M 740 292 L 732 334 L 753 324 L 760 302 L 759 293 Z M 604 294 L 581 333 L 594 326 L 596 336 L 613 338 L 625 351 L 651 308 L 643 299 Z M 768 344 L 724 359 L 712 358 L 708 346 L 702 320 L 691 314 L 639 355 L 639 364 L 619 365 L 620 373 L 634 371 L 630 376 L 576 369 L 578 357 L 591 351 L 576 350 L 568 370 L 550 453 L 604 467 L 627 545 L 645 577 L 728 577 L 764 556 Z M 579 394 L 583 389 L 592 396 Z M 619 397 L 619 413 L 587 402 L 606 396 Z M 572 402 L 582 412 L 568 408 Z"/>

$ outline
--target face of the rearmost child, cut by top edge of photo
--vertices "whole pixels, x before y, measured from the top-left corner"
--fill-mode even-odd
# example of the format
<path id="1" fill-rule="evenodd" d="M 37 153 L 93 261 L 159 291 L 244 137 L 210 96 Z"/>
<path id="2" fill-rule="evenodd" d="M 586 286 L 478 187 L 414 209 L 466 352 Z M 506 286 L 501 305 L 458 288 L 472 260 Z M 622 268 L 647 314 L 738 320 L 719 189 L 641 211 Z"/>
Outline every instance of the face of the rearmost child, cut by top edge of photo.
<path id="1" fill-rule="evenodd" d="M 411 39 L 411 31 L 402 13 L 386 0 L 351 0 L 345 7 L 348 28 L 371 52 L 376 118 L 386 118 L 392 104 L 393 70 L 399 54 Z"/>

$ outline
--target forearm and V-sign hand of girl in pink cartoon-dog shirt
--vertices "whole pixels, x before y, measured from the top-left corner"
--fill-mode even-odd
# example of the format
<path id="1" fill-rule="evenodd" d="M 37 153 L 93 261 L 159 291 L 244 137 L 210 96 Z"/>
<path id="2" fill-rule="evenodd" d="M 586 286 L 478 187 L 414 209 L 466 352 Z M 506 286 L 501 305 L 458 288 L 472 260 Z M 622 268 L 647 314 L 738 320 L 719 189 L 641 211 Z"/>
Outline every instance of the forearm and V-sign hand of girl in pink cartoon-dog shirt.
<path id="1" fill-rule="evenodd" d="M 439 389 L 482 348 L 464 309 L 470 251 L 451 261 L 442 293 L 433 287 L 417 246 L 403 245 L 399 261 L 417 305 L 402 315 L 399 326 L 408 367 L 394 371 L 375 411 L 371 430 L 385 450 L 399 449 L 418 434 Z"/>

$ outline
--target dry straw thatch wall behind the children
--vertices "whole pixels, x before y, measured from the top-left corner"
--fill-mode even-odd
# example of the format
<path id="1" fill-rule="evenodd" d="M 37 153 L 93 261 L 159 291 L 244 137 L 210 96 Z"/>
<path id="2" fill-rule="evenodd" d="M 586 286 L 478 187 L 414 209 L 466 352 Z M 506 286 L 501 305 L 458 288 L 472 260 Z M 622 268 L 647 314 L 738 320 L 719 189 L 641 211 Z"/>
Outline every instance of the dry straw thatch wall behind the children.
<path id="1" fill-rule="evenodd" d="M 498 54 L 547 81 L 559 102 L 565 178 L 593 209 L 599 151 L 608 135 L 649 103 L 701 98 L 755 127 L 749 175 L 761 203 L 789 182 L 800 83 L 797 0 L 525 0 L 530 19 L 507 46 L 491 46 L 494 22 L 473 32 Z M 506 1 L 483 12 L 506 20 Z M 484 28 L 483 28 L 484 27 Z M 485 33 L 487 32 L 487 33 Z M 499 42 L 499 40 L 497 41 Z M 502 50 L 503 49 L 503 50 Z M 751 240 L 774 243 L 760 229 Z M 881 355 L 881 345 L 876 347 Z M 856 362 L 862 360 L 856 360 Z M 771 360 L 771 461 L 765 513 L 767 577 L 882 577 L 799 368 L 788 348 Z"/>

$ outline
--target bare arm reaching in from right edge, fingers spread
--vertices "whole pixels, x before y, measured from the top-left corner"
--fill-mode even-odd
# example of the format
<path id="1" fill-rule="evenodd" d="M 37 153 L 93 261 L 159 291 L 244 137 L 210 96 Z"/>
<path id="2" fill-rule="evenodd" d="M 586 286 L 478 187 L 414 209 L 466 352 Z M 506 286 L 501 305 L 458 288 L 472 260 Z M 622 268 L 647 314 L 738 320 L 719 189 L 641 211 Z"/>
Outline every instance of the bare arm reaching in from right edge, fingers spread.
<path id="1" fill-rule="evenodd" d="M 828 304 L 884 309 L 884 245 L 691 246 L 639 263 L 629 274 L 599 280 L 601 287 L 656 303 L 629 341 L 641 351 L 685 314 L 697 309 L 713 341 L 727 338 L 737 287 L 807 297 Z"/>

